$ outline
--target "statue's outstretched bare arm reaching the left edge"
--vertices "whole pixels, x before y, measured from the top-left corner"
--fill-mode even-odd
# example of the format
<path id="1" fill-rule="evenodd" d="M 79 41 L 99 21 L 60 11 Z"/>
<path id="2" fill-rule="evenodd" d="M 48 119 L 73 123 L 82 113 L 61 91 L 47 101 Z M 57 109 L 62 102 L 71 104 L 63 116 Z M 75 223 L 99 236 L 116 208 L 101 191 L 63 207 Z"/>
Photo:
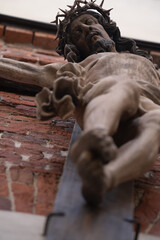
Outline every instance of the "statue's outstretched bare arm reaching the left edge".
<path id="1" fill-rule="evenodd" d="M 0 58 L 0 78 L 52 88 L 56 72 L 62 65 L 63 63 L 51 63 L 45 66 L 36 66 L 13 59 Z"/>

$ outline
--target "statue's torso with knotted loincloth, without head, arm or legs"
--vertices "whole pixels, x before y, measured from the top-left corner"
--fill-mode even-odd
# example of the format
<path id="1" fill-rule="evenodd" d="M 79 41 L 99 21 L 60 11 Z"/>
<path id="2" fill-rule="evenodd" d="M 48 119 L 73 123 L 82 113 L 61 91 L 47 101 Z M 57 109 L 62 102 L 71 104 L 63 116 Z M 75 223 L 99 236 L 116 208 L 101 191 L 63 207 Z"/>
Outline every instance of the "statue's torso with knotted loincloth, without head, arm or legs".
<path id="1" fill-rule="evenodd" d="M 54 68 L 54 63 L 52 64 Z M 47 120 L 55 115 L 66 119 L 79 106 L 105 94 L 110 79 L 136 81 L 140 90 L 139 111 L 160 110 L 160 71 L 148 59 L 130 53 L 98 53 L 80 63 L 59 65 L 52 89 L 43 88 L 36 95 L 37 115 Z"/>

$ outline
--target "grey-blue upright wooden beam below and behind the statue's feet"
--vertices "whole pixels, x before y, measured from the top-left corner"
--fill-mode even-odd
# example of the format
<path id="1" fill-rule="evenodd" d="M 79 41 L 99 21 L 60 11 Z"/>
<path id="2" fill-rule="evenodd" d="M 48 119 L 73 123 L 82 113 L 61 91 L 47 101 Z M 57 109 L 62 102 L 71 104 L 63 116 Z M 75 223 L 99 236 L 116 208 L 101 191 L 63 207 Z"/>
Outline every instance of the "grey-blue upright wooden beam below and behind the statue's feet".
<path id="1" fill-rule="evenodd" d="M 81 130 L 74 126 L 71 144 Z M 76 166 L 67 158 L 54 212 L 47 224 L 47 240 L 133 240 L 133 182 L 109 191 L 97 209 L 89 208 L 81 195 Z"/>

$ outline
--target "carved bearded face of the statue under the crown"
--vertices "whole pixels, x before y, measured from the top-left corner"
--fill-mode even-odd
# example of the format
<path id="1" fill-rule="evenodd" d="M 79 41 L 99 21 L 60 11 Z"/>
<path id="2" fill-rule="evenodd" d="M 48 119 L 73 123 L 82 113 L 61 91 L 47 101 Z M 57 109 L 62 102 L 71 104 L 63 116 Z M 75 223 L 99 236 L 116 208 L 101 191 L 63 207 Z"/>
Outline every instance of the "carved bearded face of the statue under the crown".
<path id="1" fill-rule="evenodd" d="M 91 14 L 77 17 L 70 26 L 72 43 L 87 57 L 97 52 L 115 52 L 114 42 Z"/>

